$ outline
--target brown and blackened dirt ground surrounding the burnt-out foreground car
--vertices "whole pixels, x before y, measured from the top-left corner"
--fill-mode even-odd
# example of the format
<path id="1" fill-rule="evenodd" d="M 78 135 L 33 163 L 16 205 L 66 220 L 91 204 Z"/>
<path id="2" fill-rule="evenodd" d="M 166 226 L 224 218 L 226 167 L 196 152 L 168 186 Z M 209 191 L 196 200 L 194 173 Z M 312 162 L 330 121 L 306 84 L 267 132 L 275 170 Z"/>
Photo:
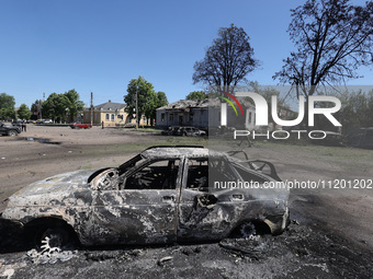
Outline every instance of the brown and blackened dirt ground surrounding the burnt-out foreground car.
<path id="1" fill-rule="evenodd" d="M 0 137 L 0 211 L 23 186 L 75 170 L 116 166 L 154 144 L 202 144 L 125 129 L 72 130 L 29 125 Z M 224 150 L 236 147 L 221 147 Z M 372 179 L 373 151 L 256 142 L 250 159 L 272 162 L 283 181 Z M 279 236 L 169 246 L 79 247 L 42 264 L 4 241 L 0 278 L 369 278 L 373 274 L 373 189 L 291 190 L 292 223 Z M 1 239 L 1 237 L 0 237 Z"/>

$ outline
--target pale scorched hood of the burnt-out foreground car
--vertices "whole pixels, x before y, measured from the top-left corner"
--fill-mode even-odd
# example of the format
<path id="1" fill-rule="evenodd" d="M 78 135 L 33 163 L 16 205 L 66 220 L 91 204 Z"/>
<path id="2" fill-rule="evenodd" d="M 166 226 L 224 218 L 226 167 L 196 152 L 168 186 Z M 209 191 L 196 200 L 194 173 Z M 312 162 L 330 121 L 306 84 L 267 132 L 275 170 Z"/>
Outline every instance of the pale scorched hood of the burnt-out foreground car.
<path id="1" fill-rule="evenodd" d="M 32 196 L 50 194 L 60 195 L 63 198 L 71 193 L 89 189 L 87 181 L 91 173 L 91 171 L 76 171 L 32 183 L 11 196 L 10 204 L 12 204 L 11 201 L 31 198 Z"/>

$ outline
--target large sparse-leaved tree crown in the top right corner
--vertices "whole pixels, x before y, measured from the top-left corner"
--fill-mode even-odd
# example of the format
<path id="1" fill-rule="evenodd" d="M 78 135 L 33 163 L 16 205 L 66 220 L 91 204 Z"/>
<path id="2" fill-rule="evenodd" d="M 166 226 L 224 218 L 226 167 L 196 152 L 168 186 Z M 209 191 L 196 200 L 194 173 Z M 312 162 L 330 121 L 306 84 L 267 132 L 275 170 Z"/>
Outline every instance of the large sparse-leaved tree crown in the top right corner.
<path id="1" fill-rule="evenodd" d="M 373 3 L 349 0 L 308 0 L 292 11 L 290 37 L 297 50 L 273 75 L 296 86 L 296 95 L 315 94 L 317 85 L 359 78 L 361 66 L 372 65 Z"/>

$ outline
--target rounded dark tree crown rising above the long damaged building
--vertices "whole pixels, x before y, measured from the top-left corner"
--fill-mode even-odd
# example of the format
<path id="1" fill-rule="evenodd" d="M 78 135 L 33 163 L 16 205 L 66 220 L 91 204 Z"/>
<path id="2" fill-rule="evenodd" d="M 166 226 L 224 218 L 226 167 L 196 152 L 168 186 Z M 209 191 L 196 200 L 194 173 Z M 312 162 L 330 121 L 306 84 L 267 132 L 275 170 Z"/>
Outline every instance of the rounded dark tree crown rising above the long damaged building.
<path id="1" fill-rule="evenodd" d="M 234 24 L 219 28 L 204 59 L 194 63 L 193 83 L 229 86 L 245 80 L 259 63 L 249 39 L 244 28 Z"/>

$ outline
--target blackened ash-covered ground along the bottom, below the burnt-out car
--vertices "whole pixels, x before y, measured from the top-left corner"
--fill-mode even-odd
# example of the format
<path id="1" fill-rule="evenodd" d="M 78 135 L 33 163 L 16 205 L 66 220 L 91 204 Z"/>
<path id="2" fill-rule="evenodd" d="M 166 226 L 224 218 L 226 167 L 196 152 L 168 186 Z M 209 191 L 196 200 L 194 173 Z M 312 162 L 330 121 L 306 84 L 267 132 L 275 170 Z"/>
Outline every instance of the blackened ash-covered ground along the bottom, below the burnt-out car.
<path id="1" fill-rule="evenodd" d="M 34 257 L 35 252 L 27 252 L 26 256 L 24 252 L 2 254 L 0 276 L 369 278 L 373 274 L 372 253 L 336 234 L 324 232 L 317 225 L 299 224 L 297 221 L 293 221 L 291 226 L 278 236 L 250 235 L 218 243 L 169 246 L 91 247 L 67 254 L 52 254 L 45 259 L 43 255 Z M 12 276 L 8 277 L 9 274 Z"/>

